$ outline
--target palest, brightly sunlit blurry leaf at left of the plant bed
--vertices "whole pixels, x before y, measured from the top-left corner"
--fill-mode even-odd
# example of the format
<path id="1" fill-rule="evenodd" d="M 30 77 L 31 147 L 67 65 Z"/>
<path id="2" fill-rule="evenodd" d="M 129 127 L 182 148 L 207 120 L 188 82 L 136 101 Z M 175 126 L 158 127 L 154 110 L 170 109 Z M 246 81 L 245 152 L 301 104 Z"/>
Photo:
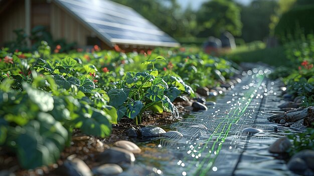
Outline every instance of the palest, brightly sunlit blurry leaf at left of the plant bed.
<path id="1" fill-rule="evenodd" d="M 41 111 L 47 112 L 53 110 L 54 99 L 49 93 L 34 89 L 26 83 L 23 84 L 23 87 L 26 90 L 29 98 L 39 107 Z"/>

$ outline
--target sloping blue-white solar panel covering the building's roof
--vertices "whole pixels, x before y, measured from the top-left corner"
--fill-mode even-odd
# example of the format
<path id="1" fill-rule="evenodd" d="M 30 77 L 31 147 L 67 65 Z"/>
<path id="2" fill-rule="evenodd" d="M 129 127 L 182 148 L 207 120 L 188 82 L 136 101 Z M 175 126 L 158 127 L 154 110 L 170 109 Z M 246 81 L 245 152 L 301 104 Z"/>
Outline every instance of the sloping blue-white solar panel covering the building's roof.
<path id="1" fill-rule="evenodd" d="M 108 0 L 55 0 L 109 45 L 177 47 L 180 44 L 133 9 Z"/>

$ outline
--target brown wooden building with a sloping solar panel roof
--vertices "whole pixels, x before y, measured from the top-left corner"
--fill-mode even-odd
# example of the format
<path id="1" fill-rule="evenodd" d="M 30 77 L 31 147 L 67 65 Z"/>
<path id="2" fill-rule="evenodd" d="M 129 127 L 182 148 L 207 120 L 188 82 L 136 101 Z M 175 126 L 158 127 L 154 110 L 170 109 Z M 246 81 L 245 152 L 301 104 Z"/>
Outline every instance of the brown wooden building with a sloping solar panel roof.
<path id="1" fill-rule="evenodd" d="M 53 39 L 78 47 L 176 47 L 179 43 L 133 9 L 108 0 L 0 0 L 0 47 L 15 29 L 48 28 Z"/>

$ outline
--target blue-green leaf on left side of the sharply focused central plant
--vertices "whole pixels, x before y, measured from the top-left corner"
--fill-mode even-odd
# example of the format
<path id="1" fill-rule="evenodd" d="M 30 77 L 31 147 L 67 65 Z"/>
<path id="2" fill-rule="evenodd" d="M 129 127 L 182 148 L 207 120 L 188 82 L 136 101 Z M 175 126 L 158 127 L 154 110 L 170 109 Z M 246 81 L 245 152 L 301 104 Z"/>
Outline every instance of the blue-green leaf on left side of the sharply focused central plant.
<path id="1" fill-rule="evenodd" d="M 110 89 L 108 96 L 110 98 L 109 105 L 118 108 L 127 99 L 129 90 L 127 89 Z"/>

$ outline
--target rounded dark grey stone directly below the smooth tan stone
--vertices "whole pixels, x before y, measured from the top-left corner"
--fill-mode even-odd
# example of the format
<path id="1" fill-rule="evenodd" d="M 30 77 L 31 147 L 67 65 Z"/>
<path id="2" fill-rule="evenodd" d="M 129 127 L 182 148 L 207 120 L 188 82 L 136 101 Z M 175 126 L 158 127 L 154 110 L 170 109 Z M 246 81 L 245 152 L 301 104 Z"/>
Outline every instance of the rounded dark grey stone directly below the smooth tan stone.
<path id="1" fill-rule="evenodd" d="M 135 156 L 132 152 L 119 148 L 111 147 L 106 149 L 104 152 L 101 152 L 96 157 L 96 161 L 100 164 L 105 163 L 114 163 L 114 164 L 130 164 L 135 161 Z"/>

